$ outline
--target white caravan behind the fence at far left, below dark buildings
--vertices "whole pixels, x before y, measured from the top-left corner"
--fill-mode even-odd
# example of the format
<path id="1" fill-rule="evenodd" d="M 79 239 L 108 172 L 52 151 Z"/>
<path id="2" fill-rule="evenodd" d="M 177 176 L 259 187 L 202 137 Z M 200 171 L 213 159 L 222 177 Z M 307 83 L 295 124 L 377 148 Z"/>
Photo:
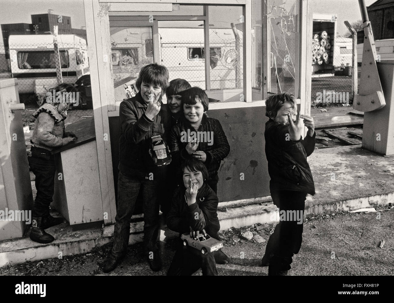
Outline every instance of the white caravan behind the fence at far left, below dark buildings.
<path id="1" fill-rule="evenodd" d="M 37 93 L 35 86 L 56 84 L 56 65 L 52 35 L 10 35 L 9 56 L 19 93 Z M 77 35 L 58 35 L 63 82 L 74 83 L 89 74 L 85 39 Z"/>

